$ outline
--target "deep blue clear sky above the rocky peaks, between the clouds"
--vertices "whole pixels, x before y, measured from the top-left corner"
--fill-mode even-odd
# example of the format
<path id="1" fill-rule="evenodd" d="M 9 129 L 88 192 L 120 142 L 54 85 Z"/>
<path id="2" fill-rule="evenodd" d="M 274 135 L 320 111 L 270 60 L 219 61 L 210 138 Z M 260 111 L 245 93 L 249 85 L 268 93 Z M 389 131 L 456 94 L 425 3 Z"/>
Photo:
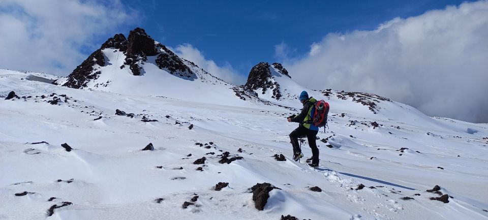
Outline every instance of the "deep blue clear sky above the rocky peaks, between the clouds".
<path id="1" fill-rule="evenodd" d="M 395 17 L 417 16 L 463 1 L 121 2 L 138 11 L 136 23 L 123 25 L 121 33 L 140 26 L 164 45 L 192 44 L 218 65 L 228 62 L 247 76 L 260 61 L 280 61 L 275 45 L 282 42 L 291 48 L 290 56 L 299 56 L 328 33 L 372 30 Z"/>

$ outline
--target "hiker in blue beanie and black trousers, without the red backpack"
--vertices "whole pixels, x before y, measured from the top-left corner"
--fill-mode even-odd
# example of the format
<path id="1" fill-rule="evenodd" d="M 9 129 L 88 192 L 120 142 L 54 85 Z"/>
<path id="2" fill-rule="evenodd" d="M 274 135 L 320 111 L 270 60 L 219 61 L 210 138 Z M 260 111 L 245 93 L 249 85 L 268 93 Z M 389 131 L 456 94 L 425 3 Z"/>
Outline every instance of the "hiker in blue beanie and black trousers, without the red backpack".
<path id="1" fill-rule="evenodd" d="M 293 146 L 293 160 L 298 161 L 303 157 L 301 149 L 298 145 L 298 137 L 307 136 L 309 141 L 309 146 L 312 148 L 312 163 L 309 164 L 311 167 L 319 166 L 319 149 L 315 142 L 315 137 L 319 132 L 319 128 L 312 124 L 312 116 L 315 113 L 315 103 L 316 99 L 313 97 L 309 98 L 307 91 L 302 91 L 300 93 L 300 102 L 303 104 L 303 109 L 301 113 L 295 117 L 288 117 L 288 122 L 298 122 L 298 128 L 290 133 L 290 140 Z"/>

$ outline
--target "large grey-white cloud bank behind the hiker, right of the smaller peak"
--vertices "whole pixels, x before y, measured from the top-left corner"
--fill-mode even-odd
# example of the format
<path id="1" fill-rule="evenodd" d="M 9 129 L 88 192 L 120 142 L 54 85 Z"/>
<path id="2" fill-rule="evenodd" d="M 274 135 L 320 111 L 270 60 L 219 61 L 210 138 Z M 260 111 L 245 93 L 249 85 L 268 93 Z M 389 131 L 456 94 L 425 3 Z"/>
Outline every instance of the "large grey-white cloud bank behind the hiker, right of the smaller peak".
<path id="1" fill-rule="evenodd" d="M 375 30 L 328 34 L 284 65 L 311 88 L 372 92 L 428 115 L 486 123 L 487 39 L 488 1 L 463 3 Z"/>

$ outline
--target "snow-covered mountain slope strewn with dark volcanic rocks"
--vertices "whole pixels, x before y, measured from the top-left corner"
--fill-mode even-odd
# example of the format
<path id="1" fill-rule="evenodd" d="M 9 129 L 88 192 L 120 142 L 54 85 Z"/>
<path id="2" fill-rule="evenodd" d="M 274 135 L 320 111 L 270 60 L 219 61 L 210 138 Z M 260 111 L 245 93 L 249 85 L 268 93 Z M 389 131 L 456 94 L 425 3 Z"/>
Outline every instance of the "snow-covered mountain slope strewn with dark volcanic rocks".
<path id="1" fill-rule="evenodd" d="M 149 56 L 134 76 L 119 68 L 123 53 L 101 52 L 112 64 L 100 66 L 106 87 L 0 70 L 0 97 L 19 97 L 0 100 L 0 219 L 488 219 L 488 124 L 308 90 L 331 105 L 321 166 L 310 169 L 290 160 L 297 124 L 285 117 L 297 100 L 256 101 L 193 69 L 193 80 L 175 77 Z M 302 150 L 311 155 L 307 142 Z M 281 153 L 286 161 L 275 160 Z M 242 159 L 225 163 L 234 156 Z M 216 191 L 219 182 L 228 185 Z M 280 189 L 259 211 L 249 188 L 263 182 Z M 430 200 L 441 196 L 425 192 L 436 184 L 448 203 Z"/>

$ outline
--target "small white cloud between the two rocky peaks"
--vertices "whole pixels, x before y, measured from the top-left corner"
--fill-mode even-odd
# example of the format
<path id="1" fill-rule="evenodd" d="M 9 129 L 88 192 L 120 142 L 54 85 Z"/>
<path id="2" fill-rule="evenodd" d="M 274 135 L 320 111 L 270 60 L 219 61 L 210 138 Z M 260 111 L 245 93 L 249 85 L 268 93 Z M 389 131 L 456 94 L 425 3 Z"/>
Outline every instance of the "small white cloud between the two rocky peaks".
<path id="1" fill-rule="evenodd" d="M 218 66 L 214 60 L 206 59 L 205 56 L 197 48 L 191 44 L 182 44 L 173 49 L 178 56 L 194 62 L 198 67 L 204 69 L 210 74 L 230 82 L 235 85 L 242 85 L 246 83 L 246 78 L 235 71 L 228 63 L 223 66 Z"/>

